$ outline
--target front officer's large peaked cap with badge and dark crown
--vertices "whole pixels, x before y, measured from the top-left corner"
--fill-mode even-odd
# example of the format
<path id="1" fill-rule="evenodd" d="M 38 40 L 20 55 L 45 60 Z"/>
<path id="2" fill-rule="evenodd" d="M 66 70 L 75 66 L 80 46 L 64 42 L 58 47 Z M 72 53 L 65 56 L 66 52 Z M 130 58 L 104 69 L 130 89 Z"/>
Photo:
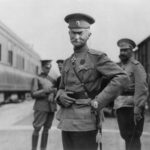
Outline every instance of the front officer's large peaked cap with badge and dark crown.
<path id="1" fill-rule="evenodd" d="M 95 22 L 94 18 L 83 13 L 73 13 L 64 18 L 69 24 L 69 29 L 89 29 L 90 25 Z"/>

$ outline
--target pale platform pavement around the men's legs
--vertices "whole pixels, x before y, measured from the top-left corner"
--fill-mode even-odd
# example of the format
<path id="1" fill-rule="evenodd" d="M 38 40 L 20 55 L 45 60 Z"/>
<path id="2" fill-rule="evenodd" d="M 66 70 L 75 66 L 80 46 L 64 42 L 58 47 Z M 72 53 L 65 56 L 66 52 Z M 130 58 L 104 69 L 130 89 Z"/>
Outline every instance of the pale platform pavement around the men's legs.
<path id="1" fill-rule="evenodd" d="M 31 150 L 33 131 L 33 101 L 9 104 L 0 108 L 0 150 Z M 47 150 L 62 150 L 61 132 L 55 120 L 49 131 Z M 143 149 L 149 150 L 150 123 L 145 123 L 142 136 Z M 103 123 L 103 150 L 124 150 L 116 119 L 109 118 Z M 39 150 L 39 149 L 38 149 Z"/>

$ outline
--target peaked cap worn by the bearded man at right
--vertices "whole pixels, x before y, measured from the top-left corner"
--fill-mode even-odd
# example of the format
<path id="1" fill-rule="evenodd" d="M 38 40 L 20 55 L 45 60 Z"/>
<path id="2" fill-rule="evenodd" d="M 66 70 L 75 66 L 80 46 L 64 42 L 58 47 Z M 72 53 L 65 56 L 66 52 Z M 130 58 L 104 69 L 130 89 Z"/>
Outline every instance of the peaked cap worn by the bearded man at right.
<path id="1" fill-rule="evenodd" d="M 117 42 L 117 45 L 118 45 L 118 47 L 120 47 L 120 49 L 127 49 L 127 48 L 134 49 L 136 47 L 135 42 L 133 40 L 127 39 L 127 38 L 120 39 Z"/>

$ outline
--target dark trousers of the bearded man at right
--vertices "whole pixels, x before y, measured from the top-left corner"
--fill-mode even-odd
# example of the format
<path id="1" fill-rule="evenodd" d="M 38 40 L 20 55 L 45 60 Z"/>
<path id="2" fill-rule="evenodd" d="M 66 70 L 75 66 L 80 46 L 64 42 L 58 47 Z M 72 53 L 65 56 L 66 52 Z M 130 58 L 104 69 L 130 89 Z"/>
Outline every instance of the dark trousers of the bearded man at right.
<path id="1" fill-rule="evenodd" d="M 144 112 L 142 119 L 134 123 L 134 108 L 123 107 L 117 110 L 117 121 L 121 137 L 125 140 L 126 150 L 141 150 L 140 137 L 143 132 Z"/>

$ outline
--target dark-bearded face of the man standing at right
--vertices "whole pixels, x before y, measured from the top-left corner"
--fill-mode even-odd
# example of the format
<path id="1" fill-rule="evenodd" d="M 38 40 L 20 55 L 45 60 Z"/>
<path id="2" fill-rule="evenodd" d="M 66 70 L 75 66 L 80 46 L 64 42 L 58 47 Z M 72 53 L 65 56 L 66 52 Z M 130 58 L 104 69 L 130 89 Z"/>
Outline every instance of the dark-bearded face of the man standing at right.
<path id="1" fill-rule="evenodd" d="M 131 48 L 120 49 L 119 58 L 122 62 L 127 62 L 131 58 L 131 56 L 132 56 Z"/>

